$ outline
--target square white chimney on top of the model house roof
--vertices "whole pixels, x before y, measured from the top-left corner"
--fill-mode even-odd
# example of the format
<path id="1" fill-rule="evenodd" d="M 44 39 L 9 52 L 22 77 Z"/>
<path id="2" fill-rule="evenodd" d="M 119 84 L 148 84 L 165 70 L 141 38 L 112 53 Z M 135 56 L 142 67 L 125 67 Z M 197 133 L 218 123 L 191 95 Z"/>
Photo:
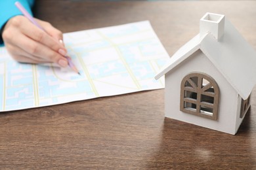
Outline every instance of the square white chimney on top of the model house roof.
<path id="1" fill-rule="evenodd" d="M 224 15 L 207 12 L 200 20 L 200 37 L 210 32 L 217 41 L 224 35 Z"/>

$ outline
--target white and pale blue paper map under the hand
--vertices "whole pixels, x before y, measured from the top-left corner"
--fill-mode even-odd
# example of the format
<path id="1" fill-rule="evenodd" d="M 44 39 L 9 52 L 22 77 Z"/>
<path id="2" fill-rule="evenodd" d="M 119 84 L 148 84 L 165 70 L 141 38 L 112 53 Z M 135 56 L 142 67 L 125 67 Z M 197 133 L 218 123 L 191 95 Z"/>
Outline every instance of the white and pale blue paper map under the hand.
<path id="1" fill-rule="evenodd" d="M 0 48 L 0 111 L 57 105 L 164 87 L 169 56 L 148 21 L 64 34 L 79 69 L 18 63 Z"/>

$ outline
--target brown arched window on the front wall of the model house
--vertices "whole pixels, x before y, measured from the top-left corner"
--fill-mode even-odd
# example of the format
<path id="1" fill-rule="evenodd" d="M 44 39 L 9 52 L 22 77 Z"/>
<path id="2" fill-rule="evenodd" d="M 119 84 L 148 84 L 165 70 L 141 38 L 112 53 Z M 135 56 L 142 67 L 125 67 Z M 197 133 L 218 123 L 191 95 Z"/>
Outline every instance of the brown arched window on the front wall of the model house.
<path id="1" fill-rule="evenodd" d="M 211 76 L 204 73 L 190 73 L 181 82 L 182 112 L 217 120 L 219 107 L 219 86 Z"/>

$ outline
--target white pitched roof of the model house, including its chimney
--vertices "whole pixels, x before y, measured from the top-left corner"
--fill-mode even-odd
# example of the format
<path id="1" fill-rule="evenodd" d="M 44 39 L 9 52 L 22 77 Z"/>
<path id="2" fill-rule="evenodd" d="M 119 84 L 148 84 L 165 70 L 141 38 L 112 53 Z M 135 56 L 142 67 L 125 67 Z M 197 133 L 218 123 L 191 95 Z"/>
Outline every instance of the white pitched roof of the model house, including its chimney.
<path id="1" fill-rule="evenodd" d="M 256 84 L 256 52 L 224 15 L 205 14 L 200 33 L 184 44 L 155 78 L 170 72 L 197 50 L 202 50 L 234 90 L 247 99 Z"/>

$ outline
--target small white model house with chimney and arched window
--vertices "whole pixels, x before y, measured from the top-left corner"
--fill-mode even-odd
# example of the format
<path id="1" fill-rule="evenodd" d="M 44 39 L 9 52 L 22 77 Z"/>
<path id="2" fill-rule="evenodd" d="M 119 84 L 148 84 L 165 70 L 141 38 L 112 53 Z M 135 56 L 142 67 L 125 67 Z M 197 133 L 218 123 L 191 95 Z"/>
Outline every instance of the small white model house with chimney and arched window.
<path id="1" fill-rule="evenodd" d="M 256 52 L 221 14 L 206 13 L 200 33 L 156 75 L 165 75 L 165 116 L 235 135 L 256 84 Z"/>

